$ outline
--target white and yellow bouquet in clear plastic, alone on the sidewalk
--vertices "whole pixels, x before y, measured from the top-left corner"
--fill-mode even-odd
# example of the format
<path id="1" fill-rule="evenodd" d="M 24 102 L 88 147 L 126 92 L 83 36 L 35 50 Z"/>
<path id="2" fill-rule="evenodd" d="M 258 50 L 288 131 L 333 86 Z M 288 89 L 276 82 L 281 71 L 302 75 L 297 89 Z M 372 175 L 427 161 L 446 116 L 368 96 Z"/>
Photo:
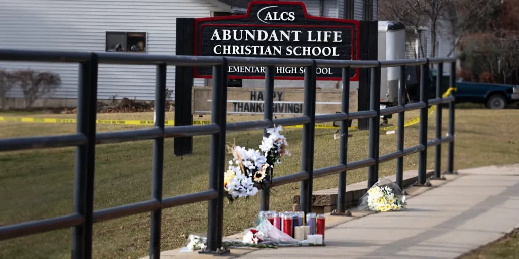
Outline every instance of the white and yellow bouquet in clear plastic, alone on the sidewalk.
<path id="1" fill-rule="evenodd" d="M 359 200 L 360 210 L 377 212 L 398 211 L 406 205 L 406 197 L 400 187 L 389 180 L 381 178 Z"/>

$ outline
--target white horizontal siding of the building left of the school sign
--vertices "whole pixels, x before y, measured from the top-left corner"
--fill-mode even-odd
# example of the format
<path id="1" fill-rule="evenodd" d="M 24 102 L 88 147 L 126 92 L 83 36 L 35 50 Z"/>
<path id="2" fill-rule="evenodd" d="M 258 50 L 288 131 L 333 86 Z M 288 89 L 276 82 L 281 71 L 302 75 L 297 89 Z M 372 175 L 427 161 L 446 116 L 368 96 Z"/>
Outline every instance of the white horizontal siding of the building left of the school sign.
<path id="1" fill-rule="evenodd" d="M 148 54 L 175 54 L 176 18 L 210 17 L 211 11 L 228 10 L 209 0 L 2 0 L 0 48 L 104 52 L 106 32 L 145 32 Z M 52 97 L 77 96 L 77 64 L 0 62 L 0 68 L 58 73 L 62 86 Z M 174 80 L 175 68 L 168 66 L 168 88 Z M 155 67 L 100 64 L 98 88 L 99 99 L 152 100 Z M 15 89 L 9 96 L 22 93 Z"/>

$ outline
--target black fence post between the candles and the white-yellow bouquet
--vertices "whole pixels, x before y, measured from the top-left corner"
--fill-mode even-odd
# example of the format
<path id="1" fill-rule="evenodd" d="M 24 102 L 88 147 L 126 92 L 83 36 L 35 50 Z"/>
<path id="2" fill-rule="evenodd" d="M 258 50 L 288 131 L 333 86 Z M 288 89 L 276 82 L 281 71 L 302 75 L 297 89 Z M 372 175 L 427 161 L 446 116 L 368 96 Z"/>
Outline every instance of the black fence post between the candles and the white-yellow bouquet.
<path id="1" fill-rule="evenodd" d="M 350 67 L 343 67 L 343 90 L 340 111 L 348 114 L 350 107 Z M 348 163 L 348 120 L 340 122 L 339 163 L 346 167 Z M 351 215 L 346 211 L 346 175 L 347 171 L 339 172 L 337 213 Z"/>

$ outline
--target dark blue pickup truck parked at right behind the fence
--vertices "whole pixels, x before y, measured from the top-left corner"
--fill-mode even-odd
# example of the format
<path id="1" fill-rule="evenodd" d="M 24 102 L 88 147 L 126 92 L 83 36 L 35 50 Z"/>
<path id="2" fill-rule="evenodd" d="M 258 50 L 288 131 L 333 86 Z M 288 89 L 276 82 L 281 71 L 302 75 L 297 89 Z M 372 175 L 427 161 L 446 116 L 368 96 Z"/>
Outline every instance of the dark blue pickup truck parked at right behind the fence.
<path id="1" fill-rule="evenodd" d="M 429 98 L 436 92 L 436 70 L 430 69 Z M 418 73 L 419 74 L 419 71 Z M 419 75 L 417 75 L 419 76 Z M 449 77 L 442 78 L 442 93 L 449 87 Z M 407 94 L 411 102 L 419 100 L 418 83 L 407 85 Z M 480 103 L 488 109 L 504 109 L 513 104 L 519 104 L 519 86 L 493 83 L 473 83 L 463 79 L 456 81 L 456 103 Z"/>

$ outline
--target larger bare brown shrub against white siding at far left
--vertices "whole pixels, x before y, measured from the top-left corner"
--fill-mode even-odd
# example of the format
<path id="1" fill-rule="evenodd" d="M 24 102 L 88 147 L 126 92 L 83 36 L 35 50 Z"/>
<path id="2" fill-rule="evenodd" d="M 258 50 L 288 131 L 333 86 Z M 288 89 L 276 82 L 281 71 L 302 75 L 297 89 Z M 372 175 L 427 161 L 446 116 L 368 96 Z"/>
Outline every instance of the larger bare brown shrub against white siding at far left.
<path id="1" fill-rule="evenodd" d="M 31 108 L 38 98 L 53 92 L 61 85 L 60 77 L 49 72 L 22 70 L 12 75 L 22 89 L 26 108 Z"/>

